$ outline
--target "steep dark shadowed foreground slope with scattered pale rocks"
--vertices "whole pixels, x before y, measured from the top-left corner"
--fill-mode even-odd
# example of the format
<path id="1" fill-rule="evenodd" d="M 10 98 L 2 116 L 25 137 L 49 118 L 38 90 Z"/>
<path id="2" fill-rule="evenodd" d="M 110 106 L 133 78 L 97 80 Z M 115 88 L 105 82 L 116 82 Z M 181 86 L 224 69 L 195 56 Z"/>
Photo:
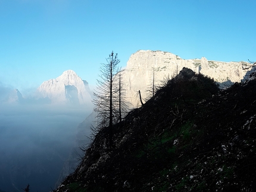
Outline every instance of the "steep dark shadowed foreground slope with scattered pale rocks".
<path id="1" fill-rule="evenodd" d="M 55 191 L 254 191 L 255 95 L 253 76 L 219 91 L 184 68 L 114 126 L 114 149 L 101 130 Z"/>

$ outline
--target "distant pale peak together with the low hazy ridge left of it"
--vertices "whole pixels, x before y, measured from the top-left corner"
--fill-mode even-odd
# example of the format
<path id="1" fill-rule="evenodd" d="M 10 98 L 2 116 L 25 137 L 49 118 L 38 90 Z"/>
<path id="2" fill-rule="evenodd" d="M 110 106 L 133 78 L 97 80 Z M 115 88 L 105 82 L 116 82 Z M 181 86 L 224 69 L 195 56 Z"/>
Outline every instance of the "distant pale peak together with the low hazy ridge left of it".
<path id="1" fill-rule="evenodd" d="M 8 90 L 0 102 L 5 104 L 86 105 L 92 108 L 92 91 L 88 82 L 72 70 L 64 71 L 56 79 L 44 81 L 35 94 L 23 97 L 18 89 Z"/>

